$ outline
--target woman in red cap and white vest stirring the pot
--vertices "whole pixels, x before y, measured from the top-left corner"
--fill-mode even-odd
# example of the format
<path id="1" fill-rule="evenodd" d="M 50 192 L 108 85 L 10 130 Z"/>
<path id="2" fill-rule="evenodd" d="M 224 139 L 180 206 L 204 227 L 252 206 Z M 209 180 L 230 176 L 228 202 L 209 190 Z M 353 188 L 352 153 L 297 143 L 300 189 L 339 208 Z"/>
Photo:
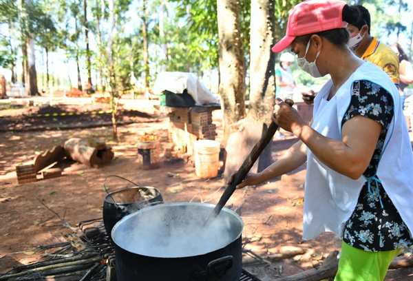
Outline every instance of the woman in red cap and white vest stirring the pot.
<path id="1" fill-rule="evenodd" d="M 306 163 L 305 240 L 341 237 L 336 281 L 382 281 L 402 247 L 413 244 L 413 154 L 399 92 L 372 63 L 348 48 L 339 0 L 308 0 L 290 12 L 286 36 L 299 67 L 331 79 L 315 97 L 313 123 L 279 103 L 273 120 L 299 142 L 238 187 L 257 185 Z"/>

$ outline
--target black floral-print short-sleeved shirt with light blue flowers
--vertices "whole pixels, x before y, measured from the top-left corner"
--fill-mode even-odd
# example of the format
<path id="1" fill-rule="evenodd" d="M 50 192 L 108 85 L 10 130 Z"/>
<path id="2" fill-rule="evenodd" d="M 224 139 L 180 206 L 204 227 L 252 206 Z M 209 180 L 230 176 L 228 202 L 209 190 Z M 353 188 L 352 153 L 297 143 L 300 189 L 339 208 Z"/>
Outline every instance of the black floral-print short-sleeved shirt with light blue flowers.
<path id="1" fill-rule="evenodd" d="M 343 231 L 344 242 L 364 251 L 390 251 L 413 244 L 412 234 L 376 176 L 393 114 L 392 96 L 380 85 L 366 80 L 353 83 L 350 106 L 341 126 L 352 117 L 360 115 L 381 125 L 379 141 L 370 165 L 363 173 L 367 181 Z"/>

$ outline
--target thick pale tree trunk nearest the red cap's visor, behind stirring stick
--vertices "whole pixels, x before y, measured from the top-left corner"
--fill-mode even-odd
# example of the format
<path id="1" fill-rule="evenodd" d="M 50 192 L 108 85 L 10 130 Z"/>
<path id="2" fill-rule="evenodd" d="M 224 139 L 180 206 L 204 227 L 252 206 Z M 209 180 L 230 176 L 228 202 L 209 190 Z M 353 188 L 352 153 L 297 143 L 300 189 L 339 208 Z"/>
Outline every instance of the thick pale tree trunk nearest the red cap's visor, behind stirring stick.
<path id="1" fill-rule="evenodd" d="M 248 117 L 271 122 L 275 98 L 275 0 L 251 1 L 250 105 Z"/>

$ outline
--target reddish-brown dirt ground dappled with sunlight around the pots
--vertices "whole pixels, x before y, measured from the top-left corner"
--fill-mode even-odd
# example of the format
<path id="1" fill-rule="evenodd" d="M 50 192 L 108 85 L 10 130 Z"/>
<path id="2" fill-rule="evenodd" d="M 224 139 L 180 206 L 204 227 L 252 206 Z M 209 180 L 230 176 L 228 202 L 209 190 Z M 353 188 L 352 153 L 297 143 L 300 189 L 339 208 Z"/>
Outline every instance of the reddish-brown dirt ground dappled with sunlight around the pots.
<path id="1" fill-rule="evenodd" d="M 10 111 L 10 108 L 7 110 Z M 1 112 L 0 109 L 0 115 Z M 216 111 L 213 118 L 214 123 L 218 125 L 218 138 L 222 134 L 220 115 L 220 112 Z M 6 124 L 3 120 L 6 117 L 2 116 L 2 124 Z M 10 118 L 21 121 L 25 117 L 17 114 L 8 120 Z M 65 123 L 59 116 L 55 118 L 56 121 L 52 123 Z M 167 119 L 162 116 L 140 114 L 134 122 L 119 127 L 119 138 L 116 142 L 112 140 L 111 127 L 0 132 L 0 273 L 14 265 L 36 260 L 33 247 L 65 242 L 65 235 L 71 232 L 41 202 L 56 211 L 73 227 L 82 220 L 102 216 L 105 197 L 103 182 L 109 175 L 129 178 L 138 185 L 156 187 L 166 202 L 218 201 L 223 191 L 224 180 L 200 180 L 195 176 L 193 166 L 184 161 L 164 162 L 155 170 L 142 169 L 136 149 L 136 136 L 145 132 L 156 132 L 165 140 Z M 41 125 L 44 125 L 44 122 Z M 17 184 L 15 165 L 32 160 L 36 153 L 74 136 L 94 137 L 106 141 L 114 149 L 114 160 L 110 165 L 98 169 L 74 164 L 67 167 L 60 178 Z M 275 141 L 274 160 L 295 141 L 294 138 Z M 305 174 L 305 169 L 301 168 L 259 187 L 238 190 L 227 205 L 231 209 L 242 207 L 240 211 L 245 224 L 243 238 L 248 241 L 246 249 L 263 256 L 277 253 L 284 246 L 306 250 L 304 255 L 283 260 L 273 267 L 248 266 L 247 268 L 262 281 L 275 280 L 279 276 L 313 268 L 328 253 L 339 249 L 340 242 L 331 233 L 325 233 L 314 240 L 301 241 Z M 110 189 L 126 185 L 120 180 L 109 181 Z M 386 280 L 413 280 L 413 270 L 389 271 Z"/>

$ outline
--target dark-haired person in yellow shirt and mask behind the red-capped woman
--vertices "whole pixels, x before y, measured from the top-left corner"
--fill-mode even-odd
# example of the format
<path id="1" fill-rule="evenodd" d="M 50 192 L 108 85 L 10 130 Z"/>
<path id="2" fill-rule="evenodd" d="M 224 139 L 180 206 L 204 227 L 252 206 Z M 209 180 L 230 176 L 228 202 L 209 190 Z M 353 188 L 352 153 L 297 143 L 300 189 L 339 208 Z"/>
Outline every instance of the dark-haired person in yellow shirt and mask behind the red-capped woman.
<path id="1" fill-rule="evenodd" d="M 388 45 L 370 35 L 370 13 L 361 5 L 346 8 L 348 47 L 361 59 L 370 61 L 384 70 L 393 83 L 399 83 L 399 59 Z"/>

